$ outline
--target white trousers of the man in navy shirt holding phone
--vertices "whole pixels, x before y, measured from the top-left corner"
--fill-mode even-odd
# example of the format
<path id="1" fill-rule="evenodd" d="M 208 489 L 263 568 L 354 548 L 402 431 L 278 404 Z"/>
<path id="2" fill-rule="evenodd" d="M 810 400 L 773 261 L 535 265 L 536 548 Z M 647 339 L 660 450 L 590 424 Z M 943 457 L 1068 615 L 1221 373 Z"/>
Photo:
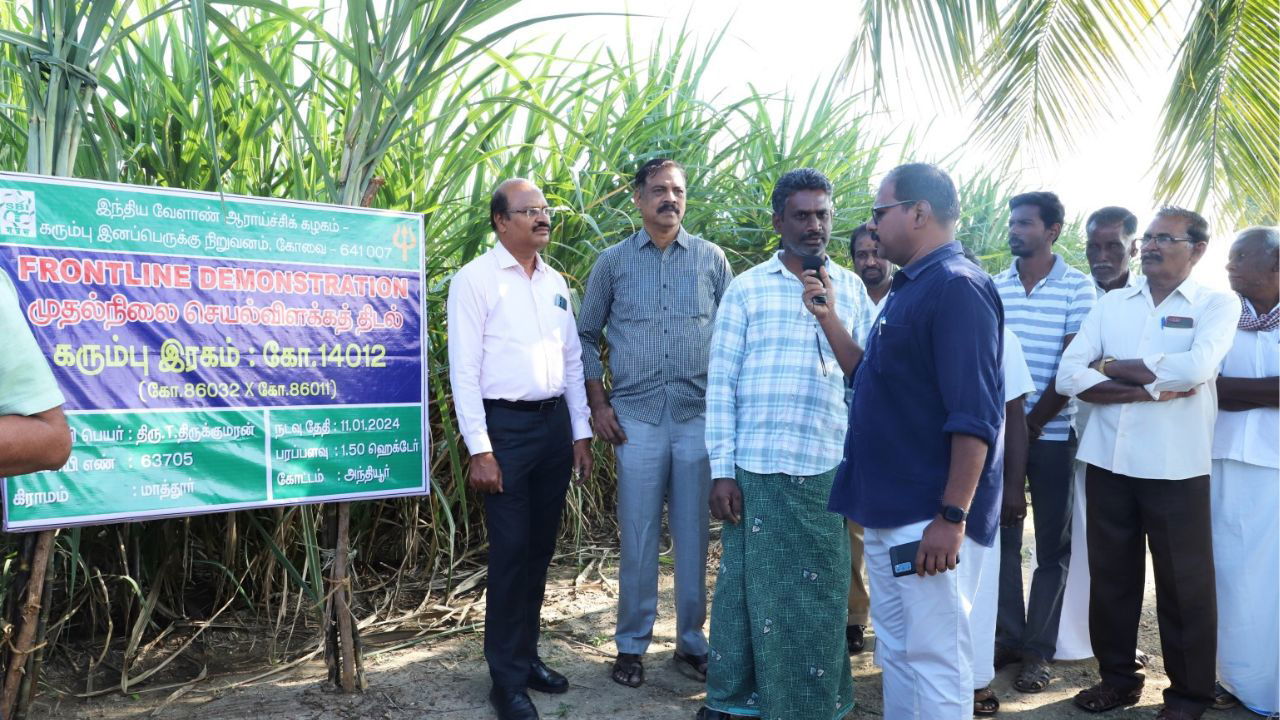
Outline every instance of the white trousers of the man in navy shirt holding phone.
<path id="1" fill-rule="evenodd" d="M 888 550 L 920 539 L 925 525 L 867 528 L 863 538 L 884 720 L 972 720 L 970 615 L 991 550 L 965 537 L 956 570 L 895 578 Z"/>

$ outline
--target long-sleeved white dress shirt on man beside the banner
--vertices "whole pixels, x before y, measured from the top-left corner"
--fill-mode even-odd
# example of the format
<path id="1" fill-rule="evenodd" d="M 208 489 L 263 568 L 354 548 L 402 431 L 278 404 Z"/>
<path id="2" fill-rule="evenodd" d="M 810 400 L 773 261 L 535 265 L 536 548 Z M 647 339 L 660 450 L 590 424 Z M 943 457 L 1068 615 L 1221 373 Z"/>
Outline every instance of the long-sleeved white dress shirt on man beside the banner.
<path id="1" fill-rule="evenodd" d="M 502 243 L 449 284 L 449 384 L 467 450 L 492 452 L 485 400 L 564 396 L 573 439 L 591 437 L 582 346 L 559 273 L 536 256 L 534 275 Z"/>

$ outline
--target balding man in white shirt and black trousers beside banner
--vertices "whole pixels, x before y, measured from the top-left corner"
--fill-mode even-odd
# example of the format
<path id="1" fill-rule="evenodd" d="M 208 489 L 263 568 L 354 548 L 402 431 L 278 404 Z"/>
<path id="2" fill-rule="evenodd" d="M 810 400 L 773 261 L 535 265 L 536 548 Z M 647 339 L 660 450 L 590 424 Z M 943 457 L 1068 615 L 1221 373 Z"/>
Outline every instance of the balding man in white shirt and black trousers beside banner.
<path id="1" fill-rule="evenodd" d="M 552 214 L 534 183 L 499 184 L 489 202 L 498 245 L 449 286 L 449 384 L 471 452 L 468 482 L 485 493 L 484 651 L 500 720 L 536 720 L 526 688 L 568 689 L 538 656 L 538 625 L 570 470 L 579 483 L 591 474 L 568 286 L 539 255 L 550 242 Z"/>

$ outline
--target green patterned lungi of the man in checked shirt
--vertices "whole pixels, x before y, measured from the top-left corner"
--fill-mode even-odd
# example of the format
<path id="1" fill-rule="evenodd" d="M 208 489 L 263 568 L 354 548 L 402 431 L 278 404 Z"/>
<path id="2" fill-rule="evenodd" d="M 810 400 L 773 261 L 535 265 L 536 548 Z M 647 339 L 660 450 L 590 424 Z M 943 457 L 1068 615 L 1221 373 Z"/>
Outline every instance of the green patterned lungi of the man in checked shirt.
<path id="1" fill-rule="evenodd" d="M 840 719 L 852 710 L 849 533 L 827 510 L 835 475 L 737 469 L 742 519 L 721 530 L 707 707 L 767 720 Z"/>

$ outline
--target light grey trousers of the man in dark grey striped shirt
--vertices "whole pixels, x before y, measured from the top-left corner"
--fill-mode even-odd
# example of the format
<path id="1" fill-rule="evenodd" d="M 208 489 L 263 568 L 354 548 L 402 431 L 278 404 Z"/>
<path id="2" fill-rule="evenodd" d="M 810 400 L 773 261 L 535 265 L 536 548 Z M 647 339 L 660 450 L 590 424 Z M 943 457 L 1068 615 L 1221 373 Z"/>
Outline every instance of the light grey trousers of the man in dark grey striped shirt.
<path id="1" fill-rule="evenodd" d="M 707 541 L 712 468 L 705 418 L 676 421 L 668 410 L 650 425 L 618 415 L 627 442 L 614 448 L 618 469 L 618 652 L 644 655 L 658 615 L 662 507 L 676 556 L 676 648 L 707 652 Z"/>

